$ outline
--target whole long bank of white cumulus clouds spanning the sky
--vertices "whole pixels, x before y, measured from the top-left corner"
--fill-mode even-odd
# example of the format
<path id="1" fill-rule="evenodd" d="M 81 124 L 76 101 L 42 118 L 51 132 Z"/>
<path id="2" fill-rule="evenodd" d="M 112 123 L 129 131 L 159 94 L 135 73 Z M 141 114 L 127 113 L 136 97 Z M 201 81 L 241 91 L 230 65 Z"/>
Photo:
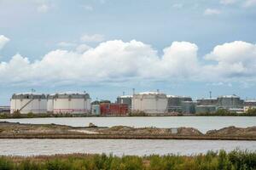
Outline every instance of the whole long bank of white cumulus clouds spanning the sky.
<path id="1" fill-rule="evenodd" d="M 35 61 L 16 54 L 8 62 L 0 62 L 0 79 L 12 84 L 142 80 L 256 82 L 255 44 L 224 43 L 213 48 L 203 59 L 197 51 L 197 45 L 191 42 L 172 42 L 162 55 L 136 40 L 102 42 L 96 48 L 81 44 L 75 50 L 50 51 Z"/>

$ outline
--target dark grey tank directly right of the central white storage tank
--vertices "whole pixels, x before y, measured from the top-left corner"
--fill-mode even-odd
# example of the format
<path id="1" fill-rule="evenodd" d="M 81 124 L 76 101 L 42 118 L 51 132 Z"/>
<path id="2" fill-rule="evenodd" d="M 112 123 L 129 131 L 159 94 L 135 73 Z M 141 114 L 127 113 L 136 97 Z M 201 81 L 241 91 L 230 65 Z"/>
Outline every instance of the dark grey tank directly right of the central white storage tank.
<path id="1" fill-rule="evenodd" d="M 176 96 L 176 95 L 166 95 L 168 99 L 167 111 L 168 112 L 182 112 L 182 102 L 192 101 L 190 97 L 187 96 Z"/>

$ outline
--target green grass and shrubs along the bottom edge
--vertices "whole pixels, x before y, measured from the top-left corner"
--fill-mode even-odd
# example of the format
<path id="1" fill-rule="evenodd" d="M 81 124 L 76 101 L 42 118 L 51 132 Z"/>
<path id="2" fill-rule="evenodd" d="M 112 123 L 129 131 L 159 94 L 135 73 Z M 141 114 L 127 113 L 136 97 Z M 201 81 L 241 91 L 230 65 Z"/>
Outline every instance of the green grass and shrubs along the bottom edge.
<path id="1" fill-rule="evenodd" d="M 56 155 L 56 156 L 1 156 L 0 169 L 71 169 L 71 170 L 253 170 L 256 169 L 256 152 L 233 150 L 230 153 L 208 151 L 197 156 L 107 156 Z"/>

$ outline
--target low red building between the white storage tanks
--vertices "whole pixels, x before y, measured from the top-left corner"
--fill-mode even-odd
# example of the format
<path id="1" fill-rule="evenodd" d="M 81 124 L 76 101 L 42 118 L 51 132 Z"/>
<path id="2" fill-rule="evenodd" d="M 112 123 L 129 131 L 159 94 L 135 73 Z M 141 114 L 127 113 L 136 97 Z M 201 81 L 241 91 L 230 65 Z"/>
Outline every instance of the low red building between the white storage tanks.
<path id="1" fill-rule="evenodd" d="M 126 116 L 128 115 L 128 105 L 126 104 L 109 104 L 102 103 L 101 115 L 102 116 Z"/>

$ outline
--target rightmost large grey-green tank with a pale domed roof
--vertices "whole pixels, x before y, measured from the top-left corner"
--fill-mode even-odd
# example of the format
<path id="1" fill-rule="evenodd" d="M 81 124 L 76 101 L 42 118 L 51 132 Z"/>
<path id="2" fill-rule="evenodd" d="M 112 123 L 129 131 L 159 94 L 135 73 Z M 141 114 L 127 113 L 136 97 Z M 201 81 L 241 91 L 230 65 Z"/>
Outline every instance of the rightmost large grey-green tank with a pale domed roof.
<path id="1" fill-rule="evenodd" d="M 241 109 L 243 108 L 243 100 L 239 96 L 234 95 L 224 95 L 218 97 L 217 106 L 222 109 Z"/>

